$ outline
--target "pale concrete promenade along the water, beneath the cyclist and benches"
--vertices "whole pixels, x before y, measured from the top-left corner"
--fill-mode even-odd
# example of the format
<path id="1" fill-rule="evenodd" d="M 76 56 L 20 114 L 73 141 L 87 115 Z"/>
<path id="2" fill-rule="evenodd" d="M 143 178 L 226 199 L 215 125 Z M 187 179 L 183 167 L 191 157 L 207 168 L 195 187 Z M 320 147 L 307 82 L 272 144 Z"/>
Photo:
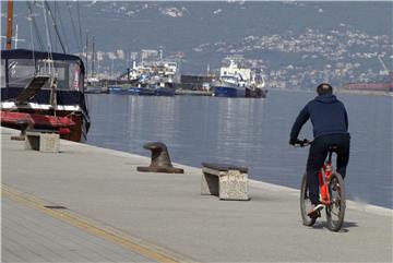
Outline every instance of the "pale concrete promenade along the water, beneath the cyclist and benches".
<path id="1" fill-rule="evenodd" d="M 251 201 L 219 201 L 200 194 L 200 168 L 139 172 L 150 158 L 68 141 L 25 151 L 17 133 L 1 128 L 2 262 L 393 260 L 392 210 L 347 202 L 342 231 L 324 215 L 305 227 L 294 189 L 250 181 Z"/>

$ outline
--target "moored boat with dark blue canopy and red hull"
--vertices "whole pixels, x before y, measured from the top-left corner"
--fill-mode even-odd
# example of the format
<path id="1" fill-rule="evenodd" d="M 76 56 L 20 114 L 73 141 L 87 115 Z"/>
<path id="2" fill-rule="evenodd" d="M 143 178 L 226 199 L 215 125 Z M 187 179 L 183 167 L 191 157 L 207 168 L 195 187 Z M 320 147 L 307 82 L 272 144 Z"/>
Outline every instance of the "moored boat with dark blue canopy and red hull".
<path id="1" fill-rule="evenodd" d="M 49 5 L 45 2 L 46 5 Z M 49 9 L 49 7 L 47 7 Z M 13 1 L 8 2 L 7 46 L 1 50 L 1 125 L 59 132 L 62 139 L 86 140 L 90 117 L 80 57 L 12 49 Z"/>

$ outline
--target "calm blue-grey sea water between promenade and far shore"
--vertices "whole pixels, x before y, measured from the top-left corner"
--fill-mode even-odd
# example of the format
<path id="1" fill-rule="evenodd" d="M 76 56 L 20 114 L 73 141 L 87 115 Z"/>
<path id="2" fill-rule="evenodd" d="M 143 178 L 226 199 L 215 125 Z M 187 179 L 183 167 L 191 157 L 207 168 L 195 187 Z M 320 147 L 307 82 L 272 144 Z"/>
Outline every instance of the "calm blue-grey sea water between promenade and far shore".
<path id="1" fill-rule="evenodd" d="M 88 144 L 150 156 L 159 141 L 171 160 L 249 167 L 250 178 L 299 189 L 308 148 L 288 145 L 289 130 L 307 92 L 271 91 L 266 99 L 138 97 L 90 94 Z M 346 177 L 352 200 L 393 208 L 392 97 L 338 94 L 346 105 L 352 152 Z M 312 139 L 307 123 L 300 138 Z"/>

